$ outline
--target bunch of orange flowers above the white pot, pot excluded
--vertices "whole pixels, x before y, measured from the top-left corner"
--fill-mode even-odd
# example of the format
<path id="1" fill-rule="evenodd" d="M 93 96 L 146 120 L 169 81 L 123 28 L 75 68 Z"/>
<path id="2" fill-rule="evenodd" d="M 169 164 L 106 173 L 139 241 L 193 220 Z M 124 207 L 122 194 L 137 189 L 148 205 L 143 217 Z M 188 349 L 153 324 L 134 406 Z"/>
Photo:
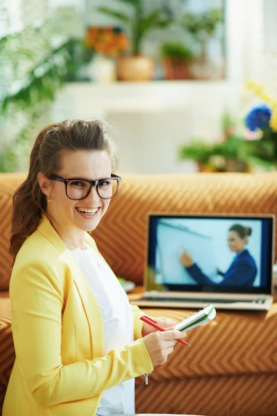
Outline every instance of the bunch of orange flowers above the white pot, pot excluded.
<path id="1" fill-rule="evenodd" d="M 87 29 L 86 45 L 109 58 L 118 58 L 118 55 L 130 47 L 129 40 L 120 28 L 110 26 L 90 26 Z"/>

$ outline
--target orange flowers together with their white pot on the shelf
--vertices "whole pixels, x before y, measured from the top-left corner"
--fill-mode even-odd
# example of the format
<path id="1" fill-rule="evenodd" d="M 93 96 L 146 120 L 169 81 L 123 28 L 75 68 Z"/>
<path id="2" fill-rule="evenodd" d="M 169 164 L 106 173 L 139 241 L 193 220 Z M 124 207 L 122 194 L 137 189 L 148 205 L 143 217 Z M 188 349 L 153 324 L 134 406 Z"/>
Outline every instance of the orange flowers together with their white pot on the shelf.
<path id="1" fill-rule="evenodd" d="M 116 59 L 129 49 L 129 40 L 125 33 L 117 27 L 90 26 L 85 44 L 95 52 L 91 65 L 93 80 L 102 83 L 115 81 Z"/>

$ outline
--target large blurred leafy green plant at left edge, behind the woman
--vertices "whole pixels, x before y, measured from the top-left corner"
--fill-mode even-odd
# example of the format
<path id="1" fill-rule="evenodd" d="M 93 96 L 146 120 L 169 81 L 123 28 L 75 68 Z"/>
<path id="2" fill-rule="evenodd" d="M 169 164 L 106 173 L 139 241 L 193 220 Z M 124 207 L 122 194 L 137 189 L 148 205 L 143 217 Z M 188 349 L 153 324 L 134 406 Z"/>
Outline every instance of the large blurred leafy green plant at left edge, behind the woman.
<path id="1" fill-rule="evenodd" d="M 66 81 L 69 40 L 53 12 L 41 25 L 0 37 L 0 172 L 26 171 L 37 130 L 51 121 L 51 103 Z"/>

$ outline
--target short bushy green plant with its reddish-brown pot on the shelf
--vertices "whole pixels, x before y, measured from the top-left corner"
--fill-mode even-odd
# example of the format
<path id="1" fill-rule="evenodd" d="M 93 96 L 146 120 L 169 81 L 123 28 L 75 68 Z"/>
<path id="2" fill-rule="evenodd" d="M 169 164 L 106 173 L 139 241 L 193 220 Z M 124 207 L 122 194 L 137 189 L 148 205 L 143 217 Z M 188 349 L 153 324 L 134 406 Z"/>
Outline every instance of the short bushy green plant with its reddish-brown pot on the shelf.
<path id="1" fill-rule="evenodd" d="M 188 80 L 193 52 L 180 42 L 164 42 L 161 45 L 163 71 L 167 80 Z"/>

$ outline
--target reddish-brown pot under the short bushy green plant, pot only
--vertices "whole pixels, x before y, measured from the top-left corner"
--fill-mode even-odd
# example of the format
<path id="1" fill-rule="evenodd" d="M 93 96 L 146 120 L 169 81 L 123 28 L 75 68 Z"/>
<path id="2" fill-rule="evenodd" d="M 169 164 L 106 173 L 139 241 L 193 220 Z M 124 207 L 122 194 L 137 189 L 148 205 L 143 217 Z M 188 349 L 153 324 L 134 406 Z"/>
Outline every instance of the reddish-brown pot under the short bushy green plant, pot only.
<path id="1" fill-rule="evenodd" d="M 166 80 L 190 80 L 190 61 L 181 58 L 163 58 L 163 72 Z"/>

